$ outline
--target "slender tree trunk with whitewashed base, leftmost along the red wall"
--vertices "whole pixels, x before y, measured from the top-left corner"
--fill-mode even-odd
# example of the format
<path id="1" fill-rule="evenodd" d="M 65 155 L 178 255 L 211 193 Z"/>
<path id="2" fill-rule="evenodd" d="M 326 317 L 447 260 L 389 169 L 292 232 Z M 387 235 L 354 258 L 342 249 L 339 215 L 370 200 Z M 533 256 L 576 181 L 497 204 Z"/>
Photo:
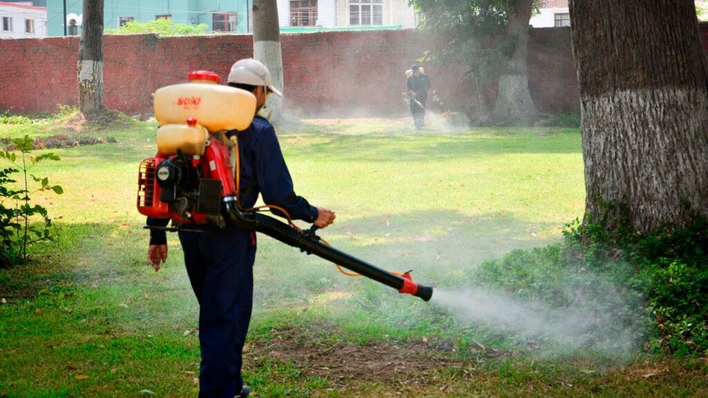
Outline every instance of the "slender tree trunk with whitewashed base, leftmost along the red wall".
<path id="1" fill-rule="evenodd" d="M 79 110 L 92 118 L 103 109 L 103 0 L 84 0 L 79 46 Z"/>

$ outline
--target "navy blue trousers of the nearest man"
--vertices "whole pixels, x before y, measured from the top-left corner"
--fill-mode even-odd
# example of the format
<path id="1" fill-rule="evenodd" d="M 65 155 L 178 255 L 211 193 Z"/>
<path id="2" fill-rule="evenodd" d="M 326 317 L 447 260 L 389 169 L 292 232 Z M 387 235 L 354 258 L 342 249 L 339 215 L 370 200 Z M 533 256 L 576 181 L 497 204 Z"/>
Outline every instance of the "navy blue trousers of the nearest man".
<path id="1" fill-rule="evenodd" d="M 244 385 L 241 352 L 253 307 L 255 237 L 229 229 L 220 234 L 180 232 L 179 239 L 200 305 L 199 397 L 234 398 Z"/>

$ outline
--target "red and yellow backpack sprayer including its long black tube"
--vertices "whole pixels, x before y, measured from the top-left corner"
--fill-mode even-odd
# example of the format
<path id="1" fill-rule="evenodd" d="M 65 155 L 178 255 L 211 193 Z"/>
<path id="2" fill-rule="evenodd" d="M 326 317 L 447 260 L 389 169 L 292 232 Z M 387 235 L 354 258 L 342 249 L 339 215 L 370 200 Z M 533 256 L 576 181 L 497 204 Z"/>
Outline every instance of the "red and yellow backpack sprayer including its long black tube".
<path id="1" fill-rule="evenodd" d="M 411 271 L 396 273 L 337 250 L 315 234 L 239 204 L 239 151 L 236 134 L 251 124 L 256 97 L 248 91 L 219 85 L 219 75 L 197 71 L 190 83 L 155 92 L 157 154 L 139 166 L 137 209 L 148 217 L 171 219 L 167 231 L 209 231 L 227 227 L 251 229 L 307 254 L 331 261 L 350 276 L 365 276 L 401 293 L 428 301 L 433 288 L 418 285 Z M 343 271 L 348 268 L 354 273 Z"/>

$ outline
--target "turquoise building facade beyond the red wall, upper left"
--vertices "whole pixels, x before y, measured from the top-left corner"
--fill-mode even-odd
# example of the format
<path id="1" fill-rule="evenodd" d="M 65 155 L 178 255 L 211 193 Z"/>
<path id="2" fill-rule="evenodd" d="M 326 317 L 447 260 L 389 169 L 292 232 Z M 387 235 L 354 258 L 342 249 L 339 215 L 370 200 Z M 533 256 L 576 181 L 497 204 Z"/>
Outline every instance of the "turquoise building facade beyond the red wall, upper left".
<path id="1" fill-rule="evenodd" d="M 64 0 L 47 1 L 47 35 L 64 35 Z M 175 23 L 206 23 L 210 31 L 247 33 L 246 10 L 252 0 L 105 0 L 104 28 L 118 28 L 127 21 L 170 18 Z M 81 34 L 81 0 L 66 0 L 67 35 Z"/>

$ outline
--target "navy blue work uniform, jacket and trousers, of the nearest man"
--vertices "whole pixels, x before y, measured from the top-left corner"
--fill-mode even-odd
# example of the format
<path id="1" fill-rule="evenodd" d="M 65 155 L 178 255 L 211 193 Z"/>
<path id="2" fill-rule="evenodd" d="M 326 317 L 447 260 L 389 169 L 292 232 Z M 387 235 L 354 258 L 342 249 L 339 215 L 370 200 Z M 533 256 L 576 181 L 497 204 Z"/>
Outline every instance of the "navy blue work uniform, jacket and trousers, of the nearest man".
<path id="1" fill-rule="evenodd" d="M 314 222 L 318 213 L 293 191 L 278 137 L 268 120 L 256 116 L 239 132 L 241 153 L 240 203 L 278 205 L 296 220 Z M 169 220 L 148 218 L 165 226 Z M 187 274 L 200 304 L 199 341 L 202 354 L 200 398 L 234 398 L 241 393 L 241 351 L 253 307 L 253 261 L 256 235 L 244 229 L 220 233 L 180 232 Z M 150 244 L 164 244 L 164 232 L 151 231 Z"/>

